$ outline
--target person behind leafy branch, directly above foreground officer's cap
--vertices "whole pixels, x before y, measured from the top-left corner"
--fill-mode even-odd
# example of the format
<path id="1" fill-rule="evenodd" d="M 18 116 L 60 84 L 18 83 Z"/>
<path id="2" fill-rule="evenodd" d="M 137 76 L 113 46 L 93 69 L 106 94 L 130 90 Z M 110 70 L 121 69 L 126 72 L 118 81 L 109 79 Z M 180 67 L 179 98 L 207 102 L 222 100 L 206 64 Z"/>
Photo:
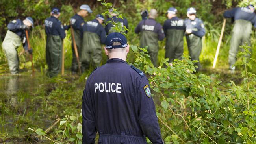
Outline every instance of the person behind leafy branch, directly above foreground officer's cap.
<path id="1" fill-rule="evenodd" d="M 113 13 L 113 9 L 109 9 L 109 13 L 112 16 L 114 22 L 120 22 L 122 27 L 126 27 L 128 29 L 128 21 L 126 18 L 122 17 L 119 18 L 118 15 L 116 13 Z M 110 23 L 108 23 L 105 27 L 106 33 L 107 35 L 109 35 L 110 33 L 116 32 L 115 28 L 113 28 L 115 25 L 112 24 L 113 20 L 112 18 L 108 18 L 106 20 L 106 22 L 111 21 Z M 125 31 L 125 33 L 127 33 L 128 31 Z"/>

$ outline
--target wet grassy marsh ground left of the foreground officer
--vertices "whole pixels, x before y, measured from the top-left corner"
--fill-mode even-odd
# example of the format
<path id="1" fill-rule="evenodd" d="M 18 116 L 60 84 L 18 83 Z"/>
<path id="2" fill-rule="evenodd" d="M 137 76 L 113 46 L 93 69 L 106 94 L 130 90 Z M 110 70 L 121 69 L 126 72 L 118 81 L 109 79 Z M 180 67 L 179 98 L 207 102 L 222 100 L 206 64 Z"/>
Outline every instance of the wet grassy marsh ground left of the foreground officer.
<path id="1" fill-rule="evenodd" d="M 45 130 L 65 114 L 79 114 L 83 87 L 77 76 L 0 75 L 0 144 L 45 143 L 28 128 Z"/>

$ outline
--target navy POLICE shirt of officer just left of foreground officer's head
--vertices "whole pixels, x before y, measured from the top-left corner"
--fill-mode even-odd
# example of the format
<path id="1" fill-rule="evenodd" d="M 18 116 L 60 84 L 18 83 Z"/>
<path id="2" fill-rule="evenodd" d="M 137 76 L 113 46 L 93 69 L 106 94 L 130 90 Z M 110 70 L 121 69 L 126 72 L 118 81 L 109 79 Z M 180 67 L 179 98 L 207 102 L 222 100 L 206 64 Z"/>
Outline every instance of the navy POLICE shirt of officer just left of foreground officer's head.
<path id="1" fill-rule="evenodd" d="M 105 44 L 106 41 L 106 31 L 104 27 L 98 22 L 98 20 L 93 19 L 83 27 L 83 32 L 89 31 L 92 33 L 96 33 L 100 37 L 100 43 Z"/>

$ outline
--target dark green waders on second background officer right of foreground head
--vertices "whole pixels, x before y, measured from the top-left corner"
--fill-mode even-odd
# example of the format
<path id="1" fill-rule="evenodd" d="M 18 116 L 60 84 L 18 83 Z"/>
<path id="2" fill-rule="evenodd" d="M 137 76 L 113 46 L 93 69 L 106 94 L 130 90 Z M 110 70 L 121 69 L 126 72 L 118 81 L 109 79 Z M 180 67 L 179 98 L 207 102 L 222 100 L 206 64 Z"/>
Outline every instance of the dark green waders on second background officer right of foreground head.
<path id="1" fill-rule="evenodd" d="M 184 30 L 168 29 L 166 33 L 165 58 L 169 61 L 181 59 L 183 55 Z"/>

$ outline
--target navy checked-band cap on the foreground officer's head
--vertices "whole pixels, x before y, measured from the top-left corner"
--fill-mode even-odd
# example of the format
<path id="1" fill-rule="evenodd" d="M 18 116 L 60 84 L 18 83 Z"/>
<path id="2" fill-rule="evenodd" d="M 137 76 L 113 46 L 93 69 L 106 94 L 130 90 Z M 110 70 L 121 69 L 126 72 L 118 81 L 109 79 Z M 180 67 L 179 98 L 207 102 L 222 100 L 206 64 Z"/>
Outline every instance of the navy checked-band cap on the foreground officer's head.
<path id="1" fill-rule="evenodd" d="M 112 46 L 114 42 L 120 42 L 121 45 L 118 46 Z M 112 48 L 125 48 L 127 47 L 127 39 L 122 33 L 110 33 L 108 37 L 106 38 L 106 48 L 112 49 Z"/>

